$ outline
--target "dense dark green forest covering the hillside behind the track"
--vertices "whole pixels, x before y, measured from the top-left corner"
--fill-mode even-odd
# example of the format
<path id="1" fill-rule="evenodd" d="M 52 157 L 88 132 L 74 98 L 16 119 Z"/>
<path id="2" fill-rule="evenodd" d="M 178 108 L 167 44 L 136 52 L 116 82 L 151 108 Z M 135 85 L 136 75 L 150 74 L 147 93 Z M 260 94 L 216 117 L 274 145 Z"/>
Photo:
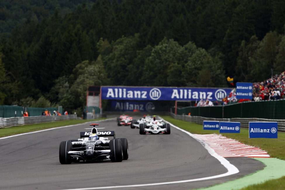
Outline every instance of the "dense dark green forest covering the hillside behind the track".
<path id="1" fill-rule="evenodd" d="M 58 0 L 13 24 L 26 2 L 0 8 L 15 25 L 1 30 L 0 105 L 79 110 L 88 85 L 228 87 L 285 70 L 285 1 L 97 0 L 65 13 L 72 1 Z"/>

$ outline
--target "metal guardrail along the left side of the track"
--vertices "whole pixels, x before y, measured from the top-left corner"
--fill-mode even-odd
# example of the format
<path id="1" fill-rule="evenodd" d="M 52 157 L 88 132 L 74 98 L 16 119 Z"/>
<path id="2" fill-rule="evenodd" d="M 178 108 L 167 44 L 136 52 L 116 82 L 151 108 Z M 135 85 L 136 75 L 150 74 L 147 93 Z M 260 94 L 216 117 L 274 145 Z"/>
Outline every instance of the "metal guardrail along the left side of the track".
<path id="1" fill-rule="evenodd" d="M 74 119 L 78 119 L 76 114 L 0 118 L 0 128 L 12 127 L 12 126 L 18 126 L 18 125 L 27 125 L 27 124 L 37 124 L 37 123 L 44 123 L 44 122 L 74 120 Z"/>

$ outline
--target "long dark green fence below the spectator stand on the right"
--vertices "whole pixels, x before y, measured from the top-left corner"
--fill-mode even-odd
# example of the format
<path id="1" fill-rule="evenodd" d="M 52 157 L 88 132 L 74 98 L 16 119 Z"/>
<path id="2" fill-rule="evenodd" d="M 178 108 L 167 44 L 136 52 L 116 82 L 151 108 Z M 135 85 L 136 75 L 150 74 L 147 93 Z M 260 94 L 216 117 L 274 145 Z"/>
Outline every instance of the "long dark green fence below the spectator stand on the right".
<path id="1" fill-rule="evenodd" d="M 174 108 L 172 108 L 173 112 Z M 241 102 L 225 106 L 177 108 L 178 115 L 201 116 L 206 118 L 264 118 L 285 119 L 285 100 Z"/>

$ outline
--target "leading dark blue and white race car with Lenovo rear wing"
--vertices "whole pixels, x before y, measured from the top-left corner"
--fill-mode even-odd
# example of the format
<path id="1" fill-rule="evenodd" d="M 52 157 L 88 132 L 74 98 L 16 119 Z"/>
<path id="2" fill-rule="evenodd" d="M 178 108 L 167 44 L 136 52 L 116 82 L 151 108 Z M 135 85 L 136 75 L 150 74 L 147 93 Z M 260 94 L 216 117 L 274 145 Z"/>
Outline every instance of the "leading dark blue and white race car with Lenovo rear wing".
<path id="1" fill-rule="evenodd" d="M 106 159 L 112 162 L 122 162 L 129 158 L 126 138 L 115 139 L 114 131 L 97 131 L 95 127 L 91 129 L 91 132 L 80 132 L 80 139 L 61 141 L 59 145 L 61 164 L 70 164 L 80 160 L 92 162 Z M 113 137 L 113 139 L 108 140 L 108 137 Z"/>

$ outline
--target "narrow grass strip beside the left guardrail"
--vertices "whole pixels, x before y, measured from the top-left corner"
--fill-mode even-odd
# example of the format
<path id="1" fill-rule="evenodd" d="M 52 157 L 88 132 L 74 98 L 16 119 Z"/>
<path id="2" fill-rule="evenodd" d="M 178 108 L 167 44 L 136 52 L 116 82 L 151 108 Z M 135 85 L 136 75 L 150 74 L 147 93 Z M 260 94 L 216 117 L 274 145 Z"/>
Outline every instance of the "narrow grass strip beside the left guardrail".
<path id="1" fill-rule="evenodd" d="M 14 134 L 39 131 L 39 130 L 54 128 L 54 127 L 76 125 L 80 123 L 104 120 L 104 119 L 107 119 L 107 118 L 97 118 L 97 119 L 91 119 L 91 120 L 66 120 L 66 121 L 57 121 L 57 122 L 50 122 L 50 123 L 39 123 L 39 124 L 0 128 L 0 137 L 6 137 L 6 136 L 14 135 Z"/>

